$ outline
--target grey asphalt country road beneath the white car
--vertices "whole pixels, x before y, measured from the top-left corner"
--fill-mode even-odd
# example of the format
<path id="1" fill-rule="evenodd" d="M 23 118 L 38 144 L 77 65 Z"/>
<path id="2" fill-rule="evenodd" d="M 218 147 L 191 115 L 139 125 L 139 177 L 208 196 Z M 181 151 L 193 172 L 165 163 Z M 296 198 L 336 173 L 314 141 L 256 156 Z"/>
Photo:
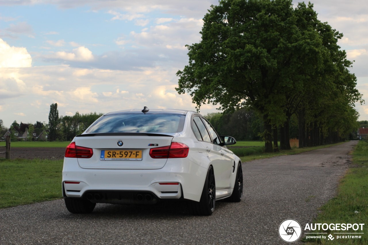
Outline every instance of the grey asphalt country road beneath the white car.
<path id="1" fill-rule="evenodd" d="M 209 217 L 180 202 L 98 204 L 87 215 L 69 213 L 63 200 L 2 209 L 0 244 L 287 244 L 280 223 L 312 221 L 336 194 L 356 143 L 243 163 L 244 199 L 216 202 Z"/>

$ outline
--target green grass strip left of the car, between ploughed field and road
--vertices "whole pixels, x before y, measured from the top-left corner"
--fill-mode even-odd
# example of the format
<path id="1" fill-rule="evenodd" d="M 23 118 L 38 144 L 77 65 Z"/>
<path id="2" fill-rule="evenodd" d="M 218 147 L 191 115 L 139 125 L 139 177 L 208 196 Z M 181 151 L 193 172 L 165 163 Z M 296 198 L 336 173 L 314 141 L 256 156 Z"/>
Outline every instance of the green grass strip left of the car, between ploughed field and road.
<path id="1" fill-rule="evenodd" d="M 0 208 L 61 198 L 63 160 L 0 160 Z"/>

